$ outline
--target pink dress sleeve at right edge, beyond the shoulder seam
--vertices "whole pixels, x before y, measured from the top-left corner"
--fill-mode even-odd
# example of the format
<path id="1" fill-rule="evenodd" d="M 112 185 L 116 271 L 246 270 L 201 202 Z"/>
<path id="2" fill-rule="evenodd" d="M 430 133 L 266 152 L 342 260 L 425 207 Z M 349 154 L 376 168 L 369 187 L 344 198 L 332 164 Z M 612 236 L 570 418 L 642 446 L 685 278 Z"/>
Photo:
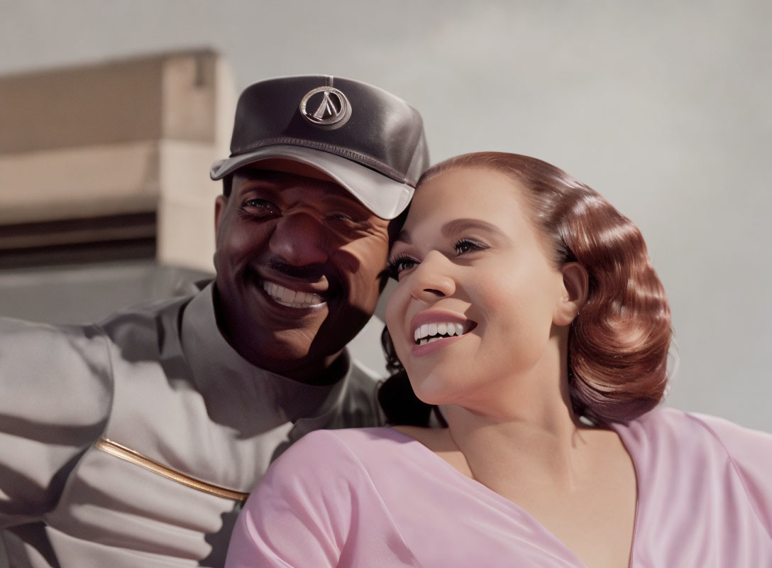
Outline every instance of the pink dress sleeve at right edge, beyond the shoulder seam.
<path id="1" fill-rule="evenodd" d="M 750 430 L 723 418 L 689 415 L 712 430 L 726 448 L 753 512 L 772 537 L 772 434 Z"/>

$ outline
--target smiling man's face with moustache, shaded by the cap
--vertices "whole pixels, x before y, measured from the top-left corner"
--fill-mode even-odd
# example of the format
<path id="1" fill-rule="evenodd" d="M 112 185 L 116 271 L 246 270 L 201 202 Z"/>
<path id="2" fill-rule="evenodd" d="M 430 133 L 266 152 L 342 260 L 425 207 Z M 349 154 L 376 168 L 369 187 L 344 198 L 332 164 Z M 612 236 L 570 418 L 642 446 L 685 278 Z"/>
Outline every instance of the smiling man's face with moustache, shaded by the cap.
<path id="1" fill-rule="evenodd" d="M 388 221 L 332 181 L 242 168 L 215 226 L 221 331 L 263 369 L 313 380 L 375 309 Z"/>

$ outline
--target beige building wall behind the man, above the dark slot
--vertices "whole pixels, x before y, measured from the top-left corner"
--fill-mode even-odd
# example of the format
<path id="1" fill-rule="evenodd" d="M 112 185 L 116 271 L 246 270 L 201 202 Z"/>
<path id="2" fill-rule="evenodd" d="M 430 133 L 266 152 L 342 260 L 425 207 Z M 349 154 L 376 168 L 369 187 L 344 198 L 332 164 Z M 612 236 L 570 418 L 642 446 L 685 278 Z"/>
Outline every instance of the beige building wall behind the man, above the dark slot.
<path id="1" fill-rule="evenodd" d="M 206 50 L 0 78 L 0 225 L 156 212 L 157 260 L 211 270 L 234 106 Z"/>

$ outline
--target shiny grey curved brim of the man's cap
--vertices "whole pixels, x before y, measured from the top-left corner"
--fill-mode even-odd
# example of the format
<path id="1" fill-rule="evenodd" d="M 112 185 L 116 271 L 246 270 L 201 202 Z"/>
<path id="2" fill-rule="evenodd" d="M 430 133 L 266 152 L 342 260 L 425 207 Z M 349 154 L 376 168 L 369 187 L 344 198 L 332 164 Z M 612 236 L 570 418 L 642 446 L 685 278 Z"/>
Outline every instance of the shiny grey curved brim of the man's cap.
<path id="1" fill-rule="evenodd" d="M 212 165 L 209 176 L 215 180 L 222 179 L 245 165 L 274 158 L 300 162 L 323 172 L 381 219 L 394 219 L 405 211 L 415 191 L 410 185 L 397 182 L 357 162 L 330 152 L 291 145 L 266 146 L 248 154 L 220 160 Z"/>

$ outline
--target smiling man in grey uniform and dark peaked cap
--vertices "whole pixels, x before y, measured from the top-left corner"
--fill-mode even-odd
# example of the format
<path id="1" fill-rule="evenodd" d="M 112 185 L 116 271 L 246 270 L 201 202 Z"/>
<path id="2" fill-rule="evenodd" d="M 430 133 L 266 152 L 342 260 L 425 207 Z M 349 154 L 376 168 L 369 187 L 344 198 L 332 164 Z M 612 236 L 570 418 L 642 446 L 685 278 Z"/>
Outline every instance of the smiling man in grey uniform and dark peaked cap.
<path id="1" fill-rule="evenodd" d="M 100 325 L 0 321 L 12 566 L 218 566 L 270 461 L 379 422 L 345 345 L 371 317 L 422 121 L 338 77 L 256 83 L 212 168 L 215 282 Z"/>

